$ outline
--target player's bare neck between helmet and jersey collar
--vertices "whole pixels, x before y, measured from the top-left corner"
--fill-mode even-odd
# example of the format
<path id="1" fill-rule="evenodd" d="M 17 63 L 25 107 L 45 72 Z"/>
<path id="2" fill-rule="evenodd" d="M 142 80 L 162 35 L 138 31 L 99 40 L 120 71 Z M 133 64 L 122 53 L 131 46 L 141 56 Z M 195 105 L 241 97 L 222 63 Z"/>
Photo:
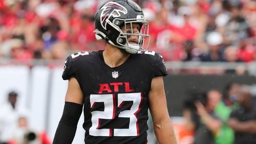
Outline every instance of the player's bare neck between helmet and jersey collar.
<path id="1" fill-rule="evenodd" d="M 120 66 L 129 58 L 129 56 L 130 54 L 122 52 L 121 49 L 110 44 L 106 45 L 106 49 L 103 52 L 104 62 L 110 67 Z"/>

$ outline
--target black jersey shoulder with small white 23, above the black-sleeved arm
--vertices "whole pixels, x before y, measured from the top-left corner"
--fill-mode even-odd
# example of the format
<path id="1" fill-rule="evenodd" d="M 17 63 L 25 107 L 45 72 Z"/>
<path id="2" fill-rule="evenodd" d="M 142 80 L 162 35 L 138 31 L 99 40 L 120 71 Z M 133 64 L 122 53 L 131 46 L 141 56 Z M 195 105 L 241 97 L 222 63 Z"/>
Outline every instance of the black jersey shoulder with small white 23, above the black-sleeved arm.
<path id="1" fill-rule="evenodd" d="M 63 80 L 69 80 L 71 77 L 76 77 L 76 72 L 79 63 L 82 61 L 82 56 L 89 55 L 89 52 L 77 52 L 67 57 L 62 73 Z"/>

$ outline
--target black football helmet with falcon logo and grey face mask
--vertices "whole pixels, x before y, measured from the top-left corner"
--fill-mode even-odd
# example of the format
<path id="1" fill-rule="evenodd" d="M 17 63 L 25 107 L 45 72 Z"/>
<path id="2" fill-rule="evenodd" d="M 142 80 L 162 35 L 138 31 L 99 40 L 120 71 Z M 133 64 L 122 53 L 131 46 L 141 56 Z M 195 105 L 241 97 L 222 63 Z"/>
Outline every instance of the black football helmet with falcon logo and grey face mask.
<path id="1" fill-rule="evenodd" d="M 139 33 L 133 32 L 134 23 L 139 24 Z M 126 31 L 127 26 L 131 30 Z M 130 54 L 146 51 L 150 42 L 148 22 L 142 9 L 131 0 L 108 1 L 101 5 L 95 14 L 94 33 L 97 40 L 105 40 Z M 135 43 L 128 41 L 132 35 L 138 37 Z"/>

